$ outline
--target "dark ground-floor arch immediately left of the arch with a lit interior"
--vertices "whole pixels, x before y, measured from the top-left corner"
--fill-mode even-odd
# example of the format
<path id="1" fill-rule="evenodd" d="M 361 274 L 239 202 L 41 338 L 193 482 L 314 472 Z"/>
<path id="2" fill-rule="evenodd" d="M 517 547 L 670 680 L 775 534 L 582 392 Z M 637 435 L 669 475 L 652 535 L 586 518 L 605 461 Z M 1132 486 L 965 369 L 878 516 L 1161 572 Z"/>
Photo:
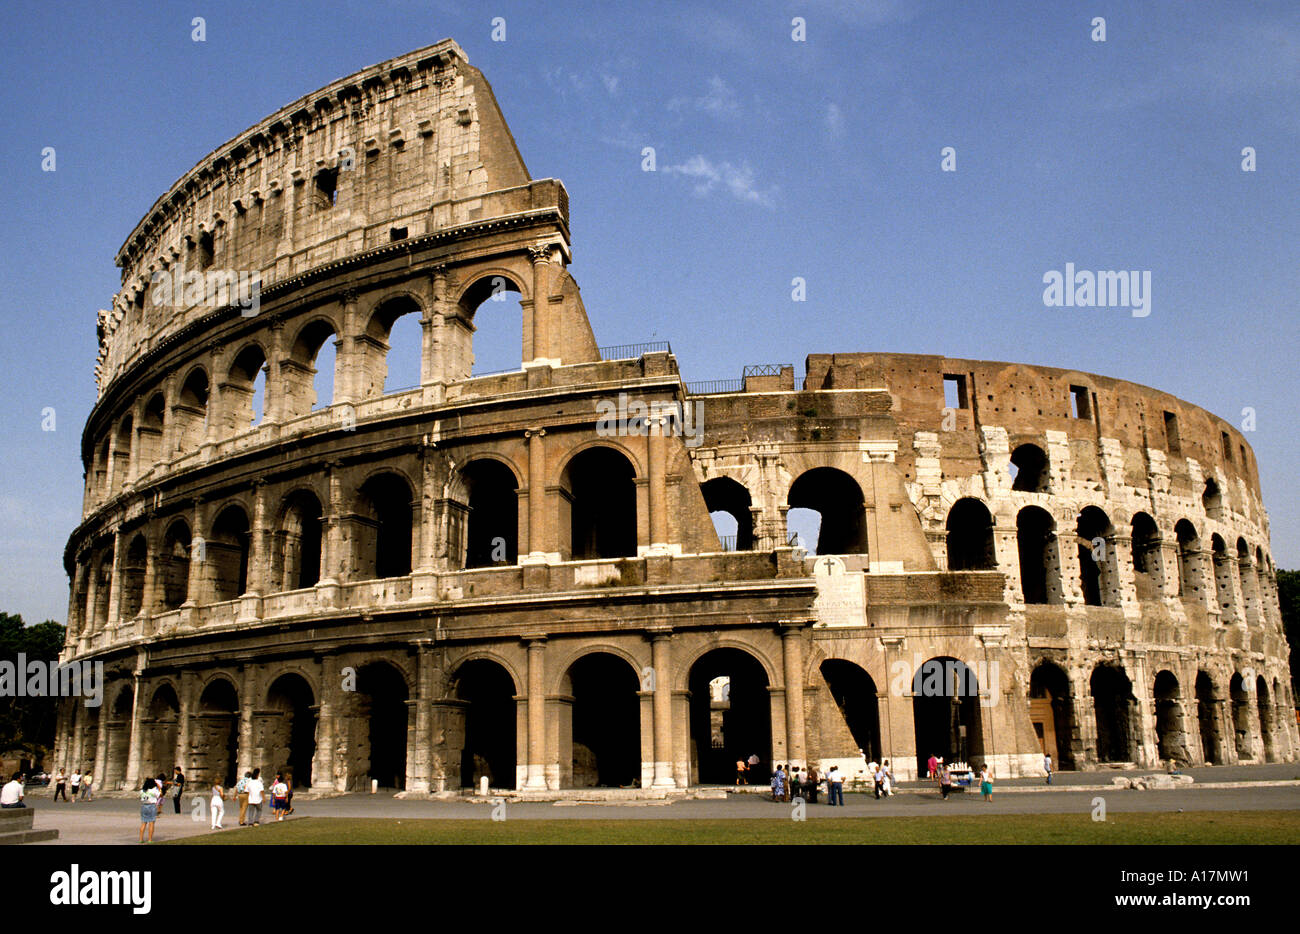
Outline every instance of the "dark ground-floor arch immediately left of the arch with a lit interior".
<path id="1" fill-rule="evenodd" d="M 573 699 L 572 787 L 641 784 L 640 689 L 636 670 L 608 652 L 593 652 L 569 666 L 564 693 Z"/>

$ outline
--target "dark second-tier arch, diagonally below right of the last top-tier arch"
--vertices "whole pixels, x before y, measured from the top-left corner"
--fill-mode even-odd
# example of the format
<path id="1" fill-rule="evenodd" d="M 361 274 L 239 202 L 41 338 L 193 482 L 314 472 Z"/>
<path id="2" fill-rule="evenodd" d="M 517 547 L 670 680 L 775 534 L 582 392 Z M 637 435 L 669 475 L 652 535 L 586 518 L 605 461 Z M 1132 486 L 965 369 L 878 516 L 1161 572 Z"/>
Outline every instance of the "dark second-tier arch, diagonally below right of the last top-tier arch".
<path id="1" fill-rule="evenodd" d="M 588 447 L 576 454 L 560 476 L 559 502 L 559 527 L 569 529 L 567 559 L 637 553 L 636 470 L 620 451 Z"/>

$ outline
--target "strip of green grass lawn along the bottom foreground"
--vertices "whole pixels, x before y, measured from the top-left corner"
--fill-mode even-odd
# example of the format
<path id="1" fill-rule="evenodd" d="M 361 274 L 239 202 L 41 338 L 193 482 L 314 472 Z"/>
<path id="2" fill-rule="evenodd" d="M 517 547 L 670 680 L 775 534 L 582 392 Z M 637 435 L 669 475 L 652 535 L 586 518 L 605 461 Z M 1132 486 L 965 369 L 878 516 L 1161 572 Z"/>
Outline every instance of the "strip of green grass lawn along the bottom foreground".
<path id="1" fill-rule="evenodd" d="M 1006 814 L 988 817 L 853 817 L 754 820 L 374 820 L 303 817 L 261 827 L 170 840 L 246 843 L 1290 843 L 1300 810 L 1182 814 Z"/>

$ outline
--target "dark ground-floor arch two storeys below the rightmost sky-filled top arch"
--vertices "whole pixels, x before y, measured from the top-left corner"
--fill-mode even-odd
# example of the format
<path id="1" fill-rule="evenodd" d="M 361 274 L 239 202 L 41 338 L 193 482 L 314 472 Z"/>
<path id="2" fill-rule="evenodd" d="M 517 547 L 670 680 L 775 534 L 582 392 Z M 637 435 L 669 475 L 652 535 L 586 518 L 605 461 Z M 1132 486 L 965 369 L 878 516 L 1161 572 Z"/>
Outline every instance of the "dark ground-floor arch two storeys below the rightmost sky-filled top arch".
<path id="1" fill-rule="evenodd" d="M 455 696 L 464 705 L 460 787 L 477 788 L 482 777 L 493 788 L 519 784 L 515 680 L 498 662 L 472 658 L 455 674 Z"/>

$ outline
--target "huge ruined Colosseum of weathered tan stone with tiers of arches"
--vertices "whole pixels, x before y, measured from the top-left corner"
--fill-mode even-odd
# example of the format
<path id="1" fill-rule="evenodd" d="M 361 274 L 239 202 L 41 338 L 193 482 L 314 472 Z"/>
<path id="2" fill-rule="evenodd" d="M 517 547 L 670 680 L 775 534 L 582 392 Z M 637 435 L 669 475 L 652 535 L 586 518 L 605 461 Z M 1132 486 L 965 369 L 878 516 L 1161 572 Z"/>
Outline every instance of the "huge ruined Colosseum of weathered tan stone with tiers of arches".
<path id="1" fill-rule="evenodd" d="M 450 40 L 177 181 L 99 316 L 62 660 L 107 687 L 64 702 L 56 765 L 526 796 L 681 794 L 750 756 L 1296 757 L 1230 423 L 945 356 L 688 382 L 667 343 L 597 343 L 569 260 L 564 186 Z M 519 364 L 481 373 L 506 293 Z M 393 386 L 407 316 L 419 385 Z"/>

